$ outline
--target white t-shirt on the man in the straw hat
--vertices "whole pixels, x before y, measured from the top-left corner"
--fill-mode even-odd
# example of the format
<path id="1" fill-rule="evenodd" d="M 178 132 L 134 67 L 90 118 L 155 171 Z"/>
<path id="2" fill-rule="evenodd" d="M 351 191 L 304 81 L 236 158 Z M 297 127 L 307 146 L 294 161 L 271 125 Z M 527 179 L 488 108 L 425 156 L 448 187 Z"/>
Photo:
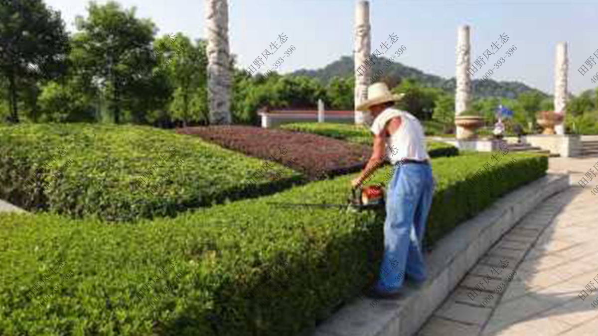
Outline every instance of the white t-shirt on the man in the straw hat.
<path id="1" fill-rule="evenodd" d="M 422 124 L 408 112 L 393 108 L 385 109 L 374 119 L 371 132 L 379 135 L 385 129 L 386 123 L 395 117 L 401 117 L 401 126 L 395 133 L 386 137 L 386 156 L 389 157 L 390 163 L 395 164 L 402 158 L 429 160 Z"/>

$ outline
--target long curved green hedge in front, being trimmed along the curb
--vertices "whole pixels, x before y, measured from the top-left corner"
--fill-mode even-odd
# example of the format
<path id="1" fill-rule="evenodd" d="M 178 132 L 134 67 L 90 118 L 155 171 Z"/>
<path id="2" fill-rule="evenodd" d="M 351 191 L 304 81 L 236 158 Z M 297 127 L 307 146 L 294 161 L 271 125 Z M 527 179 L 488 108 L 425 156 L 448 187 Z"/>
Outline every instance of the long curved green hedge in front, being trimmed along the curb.
<path id="1" fill-rule="evenodd" d="M 506 169 L 511 157 L 517 163 L 487 194 L 481 193 L 484 181 L 471 188 L 465 179 L 491 162 L 490 154 L 432 160 L 438 188 L 426 230 L 429 243 L 496 197 L 545 174 L 547 158 L 532 154 L 509 153 L 495 169 Z M 383 181 L 388 169 L 380 169 L 373 181 Z M 136 225 L 0 215 L 0 334 L 292 336 L 309 331 L 353 300 L 376 269 L 383 215 L 266 202 L 344 203 L 355 176 Z M 58 258 L 75 276 L 41 308 L 26 292 Z M 135 293 L 160 274 L 168 258 L 185 274 L 172 294 L 161 294 L 154 311 L 151 298 L 139 301 Z M 270 273 L 270 282 L 286 283 L 282 290 L 265 286 L 246 298 L 280 259 L 288 265 Z M 285 280 L 291 272 L 295 275 Z M 166 280 L 175 283 L 172 272 L 160 281 Z M 260 306 L 267 295 L 269 304 Z"/>

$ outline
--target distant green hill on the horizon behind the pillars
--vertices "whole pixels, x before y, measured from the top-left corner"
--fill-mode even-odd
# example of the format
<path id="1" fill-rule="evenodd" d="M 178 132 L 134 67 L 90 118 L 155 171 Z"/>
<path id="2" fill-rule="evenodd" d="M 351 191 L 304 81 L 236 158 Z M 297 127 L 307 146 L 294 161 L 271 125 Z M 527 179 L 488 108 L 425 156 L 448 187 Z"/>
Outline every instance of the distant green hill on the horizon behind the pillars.
<path id="1" fill-rule="evenodd" d="M 379 62 L 373 67 L 374 72 L 378 69 L 382 69 L 386 59 L 380 58 Z M 307 77 L 313 77 L 321 81 L 323 84 L 327 84 L 332 77 L 350 77 L 354 75 L 353 58 L 349 56 L 343 56 L 340 60 L 330 63 L 322 69 L 318 70 L 298 70 L 292 73 L 292 75 L 304 75 Z M 384 74 L 380 77 L 381 81 L 385 81 L 391 87 L 398 84 L 403 78 L 413 78 L 422 85 L 429 87 L 443 88 L 450 93 L 454 93 L 455 80 L 454 77 L 446 79 L 436 75 L 425 74 L 424 72 L 404 66 L 401 63 L 395 62 L 389 66 L 388 69 L 384 70 Z M 548 97 L 548 94 L 538 90 L 536 88 L 529 87 L 519 82 L 497 82 L 488 80 L 482 82 L 480 80 L 473 80 L 472 89 L 475 97 L 505 97 L 515 99 L 517 96 L 524 92 L 535 90 L 542 93 L 543 96 Z"/>

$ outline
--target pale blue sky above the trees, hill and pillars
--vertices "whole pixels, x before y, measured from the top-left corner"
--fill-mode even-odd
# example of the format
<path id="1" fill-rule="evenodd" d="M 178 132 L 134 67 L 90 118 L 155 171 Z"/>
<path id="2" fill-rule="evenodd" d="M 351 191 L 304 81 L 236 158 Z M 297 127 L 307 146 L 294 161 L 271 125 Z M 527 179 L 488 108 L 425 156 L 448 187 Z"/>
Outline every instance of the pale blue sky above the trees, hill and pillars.
<path id="1" fill-rule="evenodd" d="M 87 15 L 85 1 L 45 1 L 62 12 L 69 31 L 75 30 L 75 16 Z M 340 56 L 352 54 L 355 3 L 355 0 L 228 0 L 231 51 L 246 68 L 280 33 L 285 33 L 288 37 L 285 49 L 291 45 L 296 49 L 285 57 L 280 72 L 321 68 Z M 120 4 L 135 6 L 138 17 L 152 19 L 160 29 L 159 34 L 183 32 L 194 39 L 205 36 L 205 0 L 122 0 Z M 595 0 L 372 0 L 370 11 L 372 50 L 386 41 L 390 33 L 395 33 L 399 45 L 407 48 L 398 61 L 429 74 L 454 76 L 456 30 L 457 26 L 467 24 L 471 26 L 472 59 L 482 56 L 486 48 L 492 50 L 492 42 L 502 33 L 509 36 L 508 44 L 487 60 L 494 63 L 501 56 L 506 60 L 494 71 L 494 80 L 521 81 L 551 93 L 554 47 L 556 42 L 566 41 L 569 90 L 577 94 L 598 84 L 591 83 L 598 65 L 588 68 L 585 75 L 578 72 L 598 50 L 598 1 Z M 511 45 L 517 51 L 507 58 L 505 47 Z M 396 47 L 393 45 L 390 51 L 393 53 Z M 283 56 L 283 51 L 277 51 L 276 56 Z M 598 62 L 598 57 L 594 60 Z M 264 66 L 260 70 L 263 69 Z"/>

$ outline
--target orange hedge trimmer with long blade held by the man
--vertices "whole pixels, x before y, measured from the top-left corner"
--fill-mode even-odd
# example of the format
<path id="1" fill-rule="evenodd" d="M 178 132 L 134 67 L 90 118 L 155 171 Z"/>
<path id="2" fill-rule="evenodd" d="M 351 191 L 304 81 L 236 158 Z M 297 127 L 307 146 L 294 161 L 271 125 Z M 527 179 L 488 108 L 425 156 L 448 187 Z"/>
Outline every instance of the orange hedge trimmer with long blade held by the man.
<path id="1" fill-rule="evenodd" d="M 365 188 L 352 188 L 351 196 L 347 198 L 345 204 L 326 204 L 326 203 L 276 203 L 267 202 L 279 207 L 338 207 L 347 210 L 368 210 L 384 209 L 384 190 L 376 185 Z"/>

